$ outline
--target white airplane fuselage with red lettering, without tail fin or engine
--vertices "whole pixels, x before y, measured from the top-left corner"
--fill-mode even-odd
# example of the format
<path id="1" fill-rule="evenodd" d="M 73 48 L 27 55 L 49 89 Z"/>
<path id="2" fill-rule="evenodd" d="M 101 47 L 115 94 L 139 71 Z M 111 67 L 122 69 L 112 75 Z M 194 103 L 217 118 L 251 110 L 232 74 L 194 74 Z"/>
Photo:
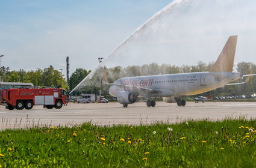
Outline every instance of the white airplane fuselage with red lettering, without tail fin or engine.
<path id="1" fill-rule="evenodd" d="M 136 87 L 152 89 L 154 92 L 150 95 L 151 97 L 195 95 L 219 88 L 229 82 L 240 79 L 241 77 L 241 73 L 234 72 L 199 72 L 124 77 L 114 82 L 115 84 L 122 85 L 122 87 L 112 85 L 109 89 L 109 93 L 110 95 L 117 97 L 118 92 L 133 92 L 133 88 Z M 143 91 L 137 91 L 137 94 L 143 97 L 148 97 Z"/>

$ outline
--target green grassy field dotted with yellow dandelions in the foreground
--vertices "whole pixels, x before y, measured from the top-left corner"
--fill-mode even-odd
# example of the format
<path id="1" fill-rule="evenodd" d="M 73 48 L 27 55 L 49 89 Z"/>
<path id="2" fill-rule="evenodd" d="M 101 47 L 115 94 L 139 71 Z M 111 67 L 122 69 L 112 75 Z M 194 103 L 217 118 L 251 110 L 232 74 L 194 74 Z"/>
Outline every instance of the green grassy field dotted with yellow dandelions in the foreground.
<path id="1" fill-rule="evenodd" d="M 256 120 L 4 130 L 0 167 L 256 167 Z"/>

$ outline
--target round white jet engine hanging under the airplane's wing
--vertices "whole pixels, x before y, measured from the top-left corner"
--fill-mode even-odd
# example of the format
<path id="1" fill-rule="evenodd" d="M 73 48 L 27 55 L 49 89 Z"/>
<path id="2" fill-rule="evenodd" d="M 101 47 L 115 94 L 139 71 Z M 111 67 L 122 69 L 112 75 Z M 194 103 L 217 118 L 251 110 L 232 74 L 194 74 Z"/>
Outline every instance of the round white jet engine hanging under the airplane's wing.
<path id="1" fill-rule="evenodd" d="M 117 94 L 117 101 L 121 104 L 132 104 L 137 100 L 138 96 L 133 92 L 120 91 Z"/>

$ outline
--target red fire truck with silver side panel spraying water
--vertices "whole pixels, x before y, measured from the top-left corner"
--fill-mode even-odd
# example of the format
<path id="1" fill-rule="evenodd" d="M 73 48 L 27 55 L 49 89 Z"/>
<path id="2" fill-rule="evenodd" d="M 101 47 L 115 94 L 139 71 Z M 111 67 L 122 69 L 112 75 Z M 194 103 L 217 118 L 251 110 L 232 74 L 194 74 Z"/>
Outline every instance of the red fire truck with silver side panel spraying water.
<path id="1" fill-rule="evenodd" d="M 43 105 L 47 109 L 60 109 L 69 101 L 69 94 L 65 89 L 59 88 L 27 88 L 3 89 L 1 91 L 1 104 L 6 109 L 30 110 L 34 105 Z"/>

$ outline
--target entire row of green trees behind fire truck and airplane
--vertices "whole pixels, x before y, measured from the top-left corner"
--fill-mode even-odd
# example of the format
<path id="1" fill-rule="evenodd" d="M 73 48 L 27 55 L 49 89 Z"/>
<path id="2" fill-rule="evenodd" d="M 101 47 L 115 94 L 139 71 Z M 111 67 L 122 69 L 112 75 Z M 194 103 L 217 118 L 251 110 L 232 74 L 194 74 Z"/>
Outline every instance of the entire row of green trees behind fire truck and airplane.
<path id="1" fill-rule="evenodd" d="M 108 68 L 108 82 L 114 82 L 122 77 L 129 76 L 147 76 L 155 74 L 175 74 L 175 73 L 192 73 L 192 72 L 202 72 L 210 71 L 213 67 L 214 62 L 202 62 L 199 61 L 196 65 L 169 65 L 162 64 L 158 65 L 156 63 L 146 64 L 142 66 L 133 65 L 128 67 L 113 67 Z M 252 62 L 239 62 L 236 66 L 237 72 L 242 74 L 252 74 L 256 73 L 256 64 Z M 91 71 L 84 68 L 77 68 L 73 72 L 69 79 L 69 87 L 67 86 L 66 79 L 60 71 L 55 70 L 52 65 L 48 68 L 31 71 L 18 70 L 11 71 L 9 67 L 1 67 L 0 76 L 2 82 L 27 82 L 33 83 L 34 86 L 59 86 L 63 88 L 72 90 L 78 83 L 80 83 L 84 77 L 86 77 Z M 99 88 L 101 87 L 102 94 L 108 94 L 108 88 L 110 86 L 103 85 L 101 81 L 101 86 L 99 86 L 99 80 L 103 78 L 105 74 L 105 67 L 100 67 L 93 73 L 90 80 L 86 81 L 86 86 L 81 86 L 79 91 L 75 91 L 75 95 L 79 95 L 81 92 L 84 93 L 94 93 L 99 94 Z M 240 79 L 237 82 L 242 82 L 245 79 Z M 214 91 L 216 95 L 241 95 L 241 94 L 253 94 L 256 92 L 256 77 L 251 77 L 248 83 L 245 85 L 231 85 L 225 86 L 224 88 L 219 88 Z"/>

